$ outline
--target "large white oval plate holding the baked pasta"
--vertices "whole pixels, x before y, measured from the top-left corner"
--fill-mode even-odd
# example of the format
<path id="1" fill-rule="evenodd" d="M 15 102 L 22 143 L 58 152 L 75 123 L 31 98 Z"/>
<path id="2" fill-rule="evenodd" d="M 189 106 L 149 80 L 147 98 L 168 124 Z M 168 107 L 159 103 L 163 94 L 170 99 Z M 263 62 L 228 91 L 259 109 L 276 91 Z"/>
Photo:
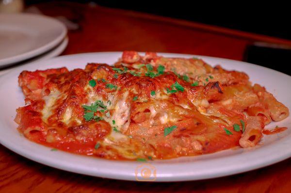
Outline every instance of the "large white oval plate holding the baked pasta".
<path id="1" fill-rule="evenodd" d="M 12 151 L 38 163 L 55 168 L 102 178 L 136 180 L 135 171 L 156 170 L 155 181 L 183 181 L 222 177 L 267 166 L 291 157 L 291 118 L 272 122 L 266 128 L 286 126 L 284 132 L 264 135 L 255 148 L 236 148 L 208 155 L 181 157 L 163 161 L 110 161 L 97 157 L 81 156 L 33 143 L 20 135 L 14 122 L 15 109 L 24 105 L 24 97 L 17 84 L 17 76 L 23 70 L 34 71 L 66 66 L 72 70 L 84 68 L 88 62 L 113 64 L 121 52 L 101 52 L 61 56 L 42 60 L 13 69 L 0 77 L 0 142 Z M 266 87 L 275 97 L 291 109 L 291 76 L 246 62 L 204 56 L 160 53 L 166 57 L 197 57 L 211 65 L 221 64 L 228 70 L 246 72 L 250 80 Z M 147 171 L 148 171 L 147 170 Z M 144 170 L 145 171 L 145 170 Z M 149 174 L 149 173 L 147 173 Z M 153 173 L 151 173 L 153 175 Z"/>

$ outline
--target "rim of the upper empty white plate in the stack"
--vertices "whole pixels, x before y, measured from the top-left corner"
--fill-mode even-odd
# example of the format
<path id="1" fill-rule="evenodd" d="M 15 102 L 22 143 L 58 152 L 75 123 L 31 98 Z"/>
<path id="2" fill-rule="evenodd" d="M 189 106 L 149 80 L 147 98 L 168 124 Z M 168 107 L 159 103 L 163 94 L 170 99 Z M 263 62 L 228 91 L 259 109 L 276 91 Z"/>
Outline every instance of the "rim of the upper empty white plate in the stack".
<path id="1" fill-rule="evenodd" d="M 60 29 L 62 29 L 62 33 L 56 37 L 53 41 L 49 42 L 48 44 L 46 45 L 42 45 L 40 47 L 37 47 L 37 48 L 34 48 L 30 51 L 27 51 L 27 52 L 24 52 L 22 54 L 18 54 L 16 56 L 12 56 L 12 57 L 9 57 L 9 58 L 4 58 L 4 59 L 0 59 L 0 67 L 7 67 L 9 65 L 12 65 L 16 62 L 19 62 L 19 61 L 22 61 L 22 60 L 25 60 L 25 59 L 30 59 L 30 58 L 33 58 L 33 57 L 36 57 L 40 54 L 43 54 L 44 52 L 52 49 L 53 47 L 55 47 L 56 45 L 58 45 L 62 40 L 65 39 L 65 36 L 67 34 L 67 29 L 65 27 L 65 25 L 60 22 L 59 20 L 53 18 L 53 17 L 49 17 L 47 15 L 38 15 L 38 14 L 30 14 L 30 13 L 21 13 L 21 14 L 0 14 L 0 16 L 9 16 L 9 15 L 13 15 L 13 16 L 16 16 L 16 17 L 22 17 L 22 16 L 28 16 L 28 17 L 32 17 L 32 18 L 35 18 L 35 17 L 38 17 L 38 18 L 41 18 L 43 19 L 44 21 L 48 21 L 50 20 L 50 22 L 54 22 L 56 25 L 59 25 Z"/>

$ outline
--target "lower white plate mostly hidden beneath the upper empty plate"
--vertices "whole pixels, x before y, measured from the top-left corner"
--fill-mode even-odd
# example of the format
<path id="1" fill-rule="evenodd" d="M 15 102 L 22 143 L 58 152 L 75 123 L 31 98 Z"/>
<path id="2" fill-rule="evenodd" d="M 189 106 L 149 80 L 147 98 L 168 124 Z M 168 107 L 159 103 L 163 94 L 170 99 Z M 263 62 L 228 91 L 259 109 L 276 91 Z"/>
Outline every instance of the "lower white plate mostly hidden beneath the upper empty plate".
<path id="1" fill-rule="evenodd" d="M 59 56 L 65 50 L 66 46 L 68 45 L 68 41 L 69 41 L 69 38 L 66 37 L 59 45 L 57 45 L 56 47 L 54 47 L 53 49 L 49 50 L 48 52 L 46 52 L 44 54 L 36 56 L 36 57 L 34 57 L 32 59 L 28 59 L 23 63 L 22 62 L 19 63 L 19 64 L 17 63 L 15 66 L 14 65 L 13 66 L 9 66 L 8 68 L 5 68 L 5 69 L 1 69 L 0 68 L 0 75 L 8 73 L 13 68 L 18 67 L 19 65 L 25 65 L 25 64 L 28 64 L 28 63 L 31 63 L 31 62 L 40 61 L 40 60 L 43 60 L 43 59 L 50 59 L 50 58 Z"/>

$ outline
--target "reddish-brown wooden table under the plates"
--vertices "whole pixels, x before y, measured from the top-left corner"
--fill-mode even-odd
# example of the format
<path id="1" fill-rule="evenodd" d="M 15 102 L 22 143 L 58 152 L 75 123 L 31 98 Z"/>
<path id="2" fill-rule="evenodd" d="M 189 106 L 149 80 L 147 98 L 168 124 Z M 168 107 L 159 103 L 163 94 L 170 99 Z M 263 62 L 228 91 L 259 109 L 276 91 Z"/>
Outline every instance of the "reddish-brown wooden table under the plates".
<path id="1" fill-rule="evenodd" d="M 95 4 L 47 3 L 37 7 L 46 15 L 65 15 L 80 24 L 79 30 L 69 31 L 69 44 L 63 55 L 137 50 L 242 60 L 245 47 L 254 41 L 291 45 L 291 41 L 278 38 Z M 0 146 L 0 192 L 290 193 L 291 159 L 224 178 L 138 183 L 61 171 L 30 161 Z"/>

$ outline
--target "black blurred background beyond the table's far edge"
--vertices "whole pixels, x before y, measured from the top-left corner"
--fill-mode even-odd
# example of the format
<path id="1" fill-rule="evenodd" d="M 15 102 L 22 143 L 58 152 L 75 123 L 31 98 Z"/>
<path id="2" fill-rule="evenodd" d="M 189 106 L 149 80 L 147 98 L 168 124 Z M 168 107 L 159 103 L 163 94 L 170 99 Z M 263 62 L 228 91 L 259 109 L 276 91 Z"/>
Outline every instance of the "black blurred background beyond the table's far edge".
<path id="1" fill-rule="evenodd" d="M 52 0 L 25 0 L 27 5 Z M 101 6 L 163 15 L 230 29 L 291 39 L 291 14 L 288 3 L 280 1 L 127 1 L 127 0 L 67 0 L 94 2 Z M 60 1 L 58 1 L 60 2 Z"/>

